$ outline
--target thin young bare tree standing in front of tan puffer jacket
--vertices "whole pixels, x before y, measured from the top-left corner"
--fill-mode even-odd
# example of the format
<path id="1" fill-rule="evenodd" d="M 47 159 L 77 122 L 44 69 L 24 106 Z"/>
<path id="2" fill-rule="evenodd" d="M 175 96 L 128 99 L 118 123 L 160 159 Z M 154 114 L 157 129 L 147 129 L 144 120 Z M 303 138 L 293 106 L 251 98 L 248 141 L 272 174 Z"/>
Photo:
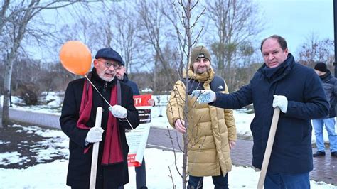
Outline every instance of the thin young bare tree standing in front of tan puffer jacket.
<path id="1" fill-rule="evenodd" d="M 196 15 L 193 15 L 194 12 L 196 12 L 196 5 L 199 3 L 199 1 L 193 1 L 193 0 L 178 0 L 175 3 L 173 3 L 173 7 L 175 10 L 176 15 L 169 15 L 165 14 L 167 18 L 169 18 L 169 21 L 173 23 L 173 26 L 175 26 L 175 30 L 177 33 L 178 38 L 178 47 L 176 50 L 178 51 L 178 54 L 180 55 L 180 58 L 176 62 L 177 68 L 184 68 L 184 70 L 187 72 L 189 69 L 189 63 L 190 63 L 190 57 L 191 57 L 191 49 L 193 48 L 193 45 L 196 44 L 198 41 L 198 38 L 200 36 L 200 32 L 202 30 L 202 27 L 200 27 L 200 31 L 197 33 L 193 33 L 194 29 L 196 29 L 196 24 L 198 23 L 199 18 L 203 15 L 205 8 L 200 10 L 200 13 L 196 13 Z M 193 36 L 196 36 L 196 38 L 193 38 Z M 181 66 L 183 65 L 183 67 Z M 185 85 L 185 89 L 188 89 L 188 82 L 189 78 L 183 77 L 183 69 L 178 70 L 180 75 L 180 80 L 183 81 L 183 85 Z M 176 86 L 176 85 L 175 85 Z M 188 129 L 188 112 L 191 111 L 188 107 L 188 90 L 185 91 L 185 96 L 181 97 L 181 95 L 178 92 L 177 88 L 173 87 L 173 93 L 175 94 L 174 98 L 171 99 L 173 102 L 181 102 L 183 100 L 185 102 L 183 106 L 183 115 L 185 120 L 185 127 L 186 130 Z M 172 97 L 172 96 L 171 96 Z M 171 103 L 171 101 L 169 102 Z M 171 112 L 170 112 L 171 111 Z M 172 110 L 168 110 L 168 114 L 173 114 Z M 183 134 L 183 148 L 181 148 L 181 151 L 183 151 L 183 166 L 182 166 L 182 183 L 183 188 L 186 188 L 187 183 L 187 153 L 188 153 L 188 143 L 189 137 L 187 133 Z M 193 161 L 193 160 L 189 160 Z M 178 167 L 178 166 L 177 166 Z M 177 171 L 179 172 L 178 168 Z M 175 187 L 175 186 L 173 186 Z"/>

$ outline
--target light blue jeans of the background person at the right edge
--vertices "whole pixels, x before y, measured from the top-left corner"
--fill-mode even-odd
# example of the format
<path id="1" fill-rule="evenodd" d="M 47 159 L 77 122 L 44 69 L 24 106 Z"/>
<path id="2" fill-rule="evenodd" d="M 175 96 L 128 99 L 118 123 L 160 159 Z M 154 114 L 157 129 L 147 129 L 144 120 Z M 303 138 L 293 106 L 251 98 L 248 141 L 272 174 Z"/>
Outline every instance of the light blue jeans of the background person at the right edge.
<path id="1" fill-rule="evenodd" d="M 337 134 L 335 131 L 335 118 L 326 119 L 313 119 L 312 124 L 314 125 L 315 136 L 316 136 L 316 146 L 317 150 L 324 151 L 324 139 L 323 139 L 323 125 L 326 126 L 326 131 L 328 131 L 328 140 L 330 141 L 330 151 L 337 151 Z"/>

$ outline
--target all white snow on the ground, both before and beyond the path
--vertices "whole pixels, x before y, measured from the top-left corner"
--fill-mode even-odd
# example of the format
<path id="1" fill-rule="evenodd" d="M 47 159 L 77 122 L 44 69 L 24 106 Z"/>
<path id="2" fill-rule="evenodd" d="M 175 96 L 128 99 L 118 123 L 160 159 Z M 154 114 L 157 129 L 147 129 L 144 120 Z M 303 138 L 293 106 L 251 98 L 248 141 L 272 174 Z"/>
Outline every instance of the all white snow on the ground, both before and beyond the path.
<path id="1" fill-rule="evenodd" d="M 168 122 L 166 119 L 166 107 L 164 107 L 164 99 L 161 97 L 156 99 L 157 107 L 153 109 L 153 126 L 166 128 Z M 55 106 L 58 106 L 55 100 Z M 58 112 L 50 112 L 48 109 L 51 105 L 40 107 L 18 107 L 15 109 L 29 109 L 34 112 L 43 112 L 51 114 L 59 114 Z M 159 117 L 161 115 L 162 117 Z M 244 110 L 235 111 L 235 120 L 237 123 L 237 132 L 244 136 L 251 136 L 250 133 L 250 121 L 254 114 L 247 114 Z M 22 127 L 15 125 L 17 127 Z M 38 126 L 32 126 L 29 128 L 22 127 L 23 132 L 36 132 L 43 137 L 53 137 L 55 139 L 46 138 L 45 146 L 48 148 L 41 149 L 38 146 L 38 158 L 41 160 L 48 159 L 53 154 L 64 153 L 65 158 L 56 160 L 50 163 L 41 163 L 36 166 L 31 166 L 22 169 L 9 169 L 0 168 L 0 188 L 68 188 L 65 185 L 65 178 L 67 175 L 68 166 L 68 137 L 63 134 L 62 131 L 55 131 L 49 129 L 41 129 Z M 6 143 L 1 141 L 0 144 Z M 26 161 L 24 158 L 18 158 L 17 152 L 12 153 L 0 153 L 0 165 L 4 163 L 20 163 Z M 149 188 L 173 188 L 173 183 L 177 188 L 181 188 L 181 178 L 175 168 L 174 156 L 171 151 L 161 151 L 155 148 L 146 148 L 146 173 L 147 173 L 147 185 Z M 178 153 L 178 165 L 181 165 L 182 154 Z M 179 166 L 178 166 L 179 167 Z M 169 177 L 169 169 L 173 173 L 173 181 Z M 232 171 L 229 174 L 230 188 L 256 188 L 259 178 L 259 172 L 255 172 L 252 168 L 233 166 Z M 125 188 L 135 188 L 135 175 L 134 168 L 129 168 L 129 180 L 130 183 Z M 213 188 L 211 178 L 205 178 L 204 188 Z M 311 188 L 337 188 L 331 184 L 311 181 Z"/>

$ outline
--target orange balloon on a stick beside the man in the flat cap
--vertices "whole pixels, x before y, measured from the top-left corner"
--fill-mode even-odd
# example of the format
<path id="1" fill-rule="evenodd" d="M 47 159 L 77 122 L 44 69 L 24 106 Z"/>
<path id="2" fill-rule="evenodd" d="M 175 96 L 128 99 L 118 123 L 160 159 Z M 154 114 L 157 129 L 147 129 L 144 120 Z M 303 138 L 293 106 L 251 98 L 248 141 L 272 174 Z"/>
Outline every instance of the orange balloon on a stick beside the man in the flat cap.
<path id="1" fill-rule="evenodd" d="M 68 41 L 62 45 L 60 60 L 63 67 L 76 75 L 85 75 L 91 68 L 91 53 L 80 41 Z"/>

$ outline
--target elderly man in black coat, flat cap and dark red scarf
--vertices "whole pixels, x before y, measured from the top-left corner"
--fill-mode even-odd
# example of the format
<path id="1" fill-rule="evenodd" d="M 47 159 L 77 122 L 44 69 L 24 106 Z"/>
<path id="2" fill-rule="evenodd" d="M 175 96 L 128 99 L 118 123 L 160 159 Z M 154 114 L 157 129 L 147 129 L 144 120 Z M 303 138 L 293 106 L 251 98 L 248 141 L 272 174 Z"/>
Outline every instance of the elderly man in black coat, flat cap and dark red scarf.
<path id="1" fill-rule="evenodd" d="M 65 91 L 60 125 L 70 138 L 67 185 L 72 188 L 89 188 L 92 144 L 99 141 L 96 188 L 129 182 L 125 129 L 136 128 L 139 117 L 132 89 L 115 77 L 118 63 L 122 57 L 112 48 L 98 50 L 90 82 L 74 80 Z M 94 127 L 97 107 L 103 108 L 102 128 Z"/>

